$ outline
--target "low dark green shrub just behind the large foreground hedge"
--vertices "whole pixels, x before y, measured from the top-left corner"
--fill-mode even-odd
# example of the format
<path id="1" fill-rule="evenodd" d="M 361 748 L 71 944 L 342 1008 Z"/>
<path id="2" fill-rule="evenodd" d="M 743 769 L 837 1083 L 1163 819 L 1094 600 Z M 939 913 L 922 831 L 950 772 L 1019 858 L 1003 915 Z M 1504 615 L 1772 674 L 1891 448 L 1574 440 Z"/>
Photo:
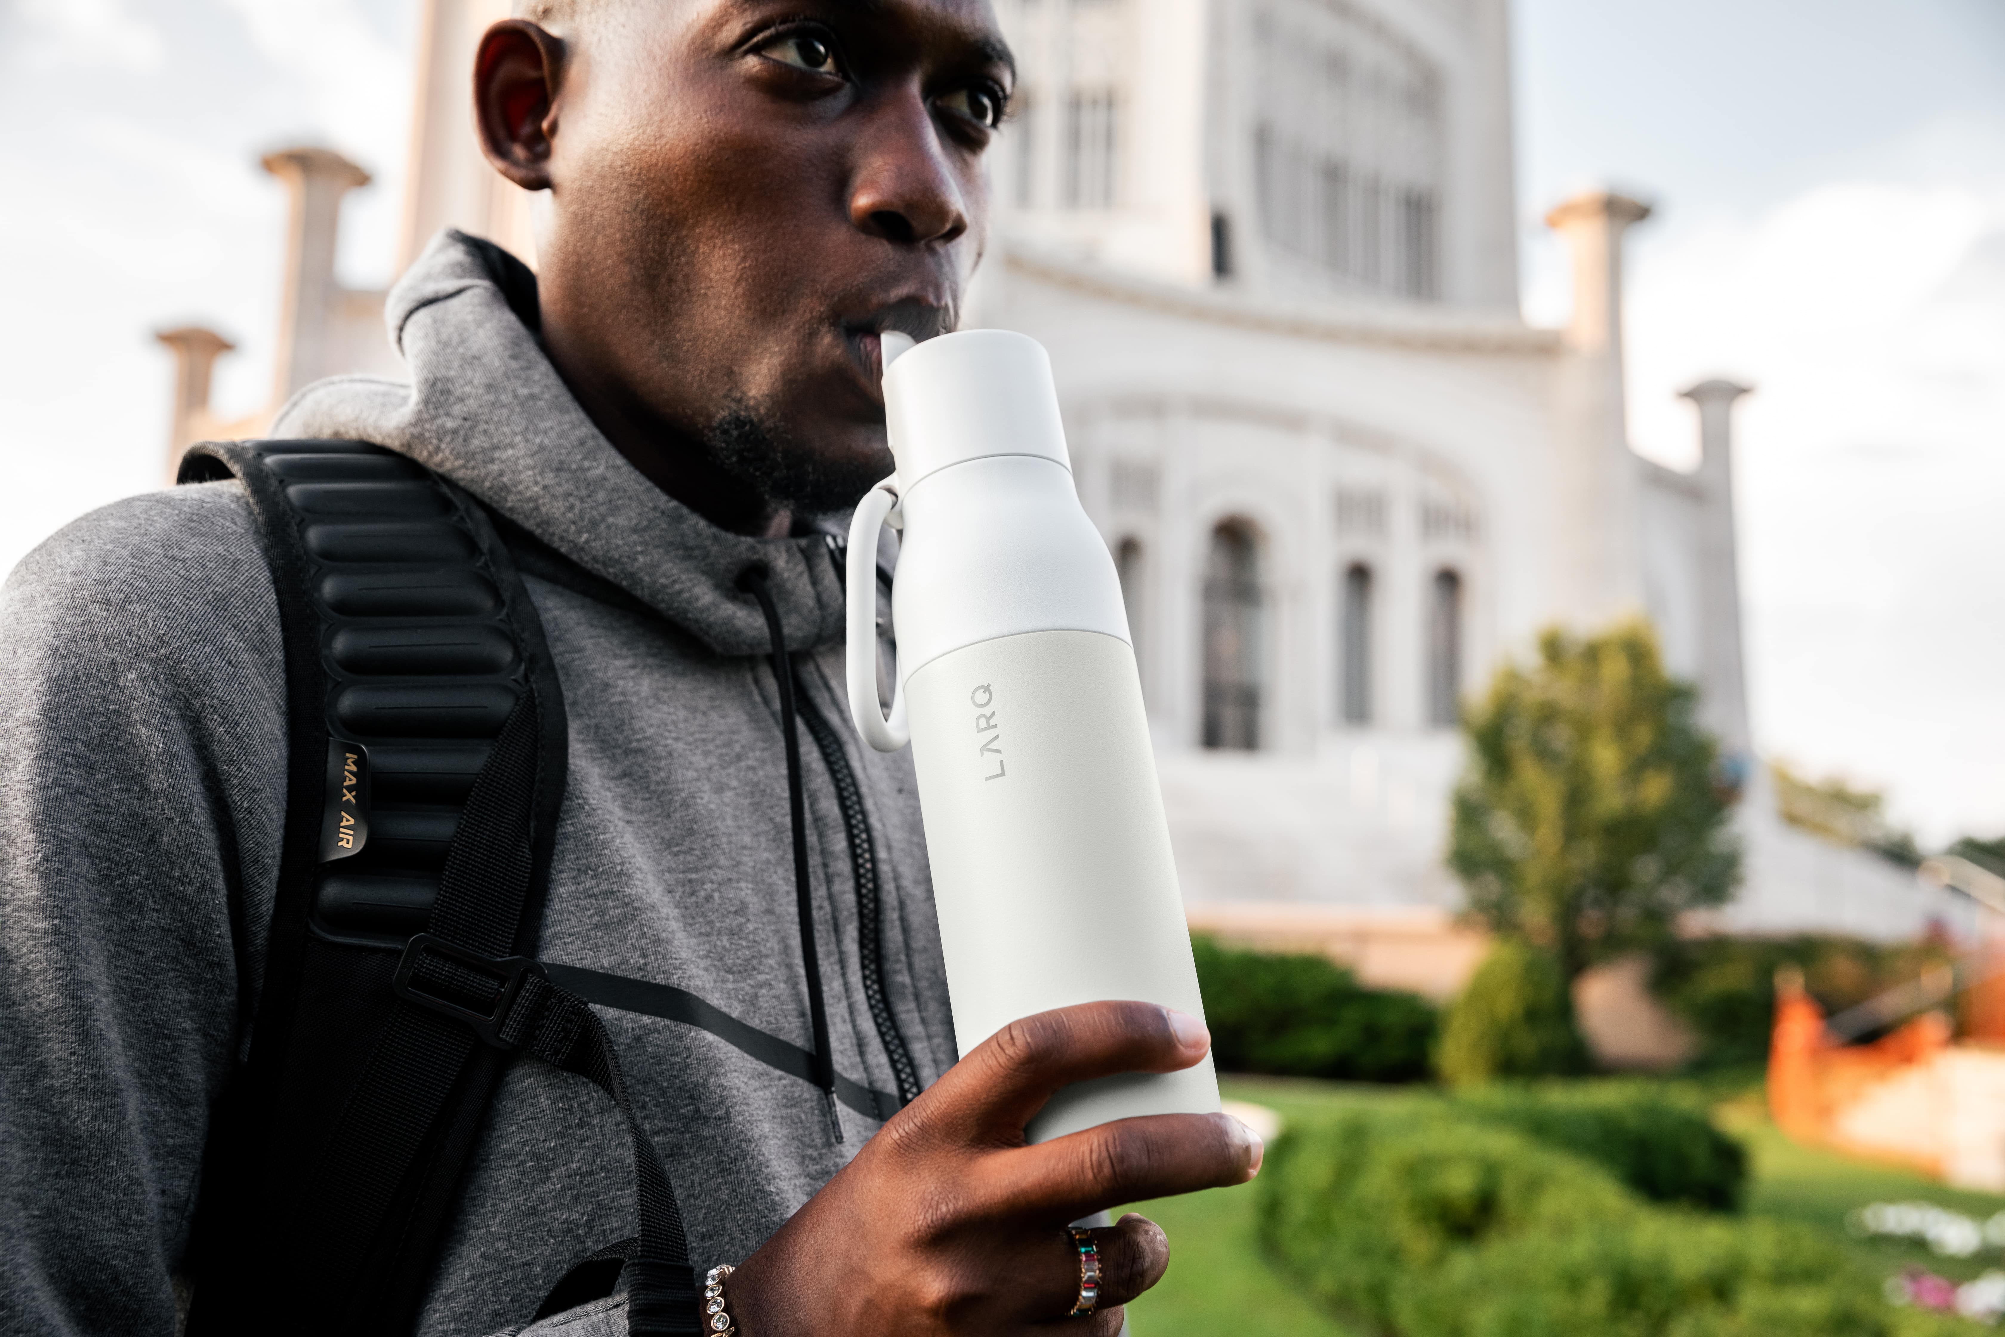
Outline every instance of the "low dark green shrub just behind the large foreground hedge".
<path id="1" fill-rule="evenodd" d="M 1456 1106 L 1592 1161 L 1654 1203 L 1738 1211 L 1746 1189 L 1746 1149 L 1642 1082 L 1486 1086 Z"/>

